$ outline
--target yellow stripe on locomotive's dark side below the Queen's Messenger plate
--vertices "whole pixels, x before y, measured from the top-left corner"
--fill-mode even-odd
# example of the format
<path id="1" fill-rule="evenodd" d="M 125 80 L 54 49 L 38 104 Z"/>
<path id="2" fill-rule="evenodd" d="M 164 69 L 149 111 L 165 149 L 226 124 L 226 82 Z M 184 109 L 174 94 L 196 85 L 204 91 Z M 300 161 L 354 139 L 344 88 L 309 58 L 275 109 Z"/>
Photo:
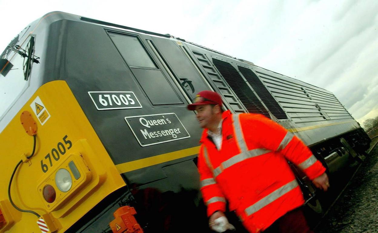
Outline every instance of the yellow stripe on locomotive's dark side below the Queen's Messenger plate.
<path id="1" fill-rule="evenodd" d="M 165 154 L 159 154 L 156 156 L 138 159 L 130 162 L 126 162 L 123 164 L 116 165 L 119 173 L 125 173 L 128 171 L 134 171 L 140 168 L 149 167 L 156 164 L 161 164 L 164 162 L 168 162 L 175 159 L 181 159 L 183 157 L 191 156 L 194 154 L 198 154 L 200 151 L 200 147 L 191 147 L 183 150 L 173 151 Z"/>

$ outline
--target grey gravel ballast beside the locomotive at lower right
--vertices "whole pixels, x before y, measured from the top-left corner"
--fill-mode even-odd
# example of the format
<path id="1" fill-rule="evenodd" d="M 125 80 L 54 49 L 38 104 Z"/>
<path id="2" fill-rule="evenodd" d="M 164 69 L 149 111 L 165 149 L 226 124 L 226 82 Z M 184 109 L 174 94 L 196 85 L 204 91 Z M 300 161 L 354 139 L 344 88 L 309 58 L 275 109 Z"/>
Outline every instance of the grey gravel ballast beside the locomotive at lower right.
<path id="1" fill-rule="evenodd" d="M 358 165 L 351 179 L 315 227 L 317 233 L 378 232 L 378 136 L 372 138 L 369 157 Z M 374 156 L 375 155 L 375 156 Z"/>

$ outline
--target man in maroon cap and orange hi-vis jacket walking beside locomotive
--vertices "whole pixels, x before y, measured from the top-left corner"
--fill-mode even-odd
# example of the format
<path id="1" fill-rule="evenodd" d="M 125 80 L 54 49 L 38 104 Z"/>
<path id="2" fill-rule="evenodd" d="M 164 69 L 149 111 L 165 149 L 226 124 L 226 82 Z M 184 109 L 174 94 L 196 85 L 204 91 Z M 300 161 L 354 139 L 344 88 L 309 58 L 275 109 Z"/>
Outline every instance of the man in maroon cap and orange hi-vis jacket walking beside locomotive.
<path id="1" fill-rule="evenodd" d="M 304 198 L 287 160 L 327 191 L 325 168 L 292 133 L 260 114 L 222 113 L 222 99 L 200 91 L 194 103 L 204 128 L 198 157 L 209 226 L 222 232 L 226 199 L 249 232 L 311 232 L 298 207 Z"/>

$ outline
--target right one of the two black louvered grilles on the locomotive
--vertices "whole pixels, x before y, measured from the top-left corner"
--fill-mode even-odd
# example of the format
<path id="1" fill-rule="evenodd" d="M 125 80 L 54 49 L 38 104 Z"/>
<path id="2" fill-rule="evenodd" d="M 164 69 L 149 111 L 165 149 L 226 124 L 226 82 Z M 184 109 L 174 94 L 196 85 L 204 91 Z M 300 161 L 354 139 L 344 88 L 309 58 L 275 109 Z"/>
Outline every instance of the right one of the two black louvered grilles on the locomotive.
<path id="1" fill-rule="evenodd" d="M 256 91 L 257 95 L 260 97 L 268 110 L 279 120 L 287 119 L 285 112 L 269 93 L 268 89 L 266 89 L 259 77 L 257 77 L 257 75 L 251 69 L 242 66 L 238 66 L 238 69 L 248 81 L 249 85 L 251 85 L 254 91 Z"/>

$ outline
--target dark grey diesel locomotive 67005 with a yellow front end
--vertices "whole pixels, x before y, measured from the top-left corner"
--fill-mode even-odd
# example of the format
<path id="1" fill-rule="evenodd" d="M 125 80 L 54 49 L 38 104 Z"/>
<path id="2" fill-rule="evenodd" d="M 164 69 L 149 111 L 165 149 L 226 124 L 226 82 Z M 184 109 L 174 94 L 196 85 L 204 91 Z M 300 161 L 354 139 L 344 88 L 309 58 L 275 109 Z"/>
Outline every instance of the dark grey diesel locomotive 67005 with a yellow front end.
<path id="1" fill-rule="evenodd" d="M 331 178 L 370 144 L 330 91 L 169 34 L 50 12 L 0 59 L 1 233 L 208 231 L 186 109 L 202 90 L 294 133 Z"/>

